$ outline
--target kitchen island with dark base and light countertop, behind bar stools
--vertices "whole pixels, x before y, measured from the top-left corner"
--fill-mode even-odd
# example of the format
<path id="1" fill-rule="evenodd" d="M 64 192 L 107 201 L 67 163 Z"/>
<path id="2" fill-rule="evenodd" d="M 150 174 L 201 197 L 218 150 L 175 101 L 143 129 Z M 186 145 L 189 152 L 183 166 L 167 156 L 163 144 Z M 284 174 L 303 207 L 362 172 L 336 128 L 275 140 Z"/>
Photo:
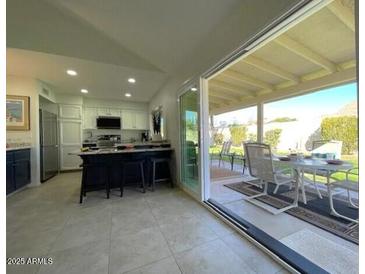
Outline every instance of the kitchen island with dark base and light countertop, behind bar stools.
<path id="1" fill-rule="evenodd" d="M 173 153 L 170 147 L 137 146 L 136 148 L 104 148 L 85 152 L 73 152 L 70 154 L 81 157 L 83 163 L 83 179 L 86 191 L 108 188 L 120 188 L 124 185 L 135 186 L 145 178 L 148 187 L 152 181 L 152 160 L 170 159 Z M 133 163 L 142 162 L 143 174 L 138 165 Z M 128 165 L 128 169 L 125 166 Z M 156 168 L 155 177 L 165 178 L 170 176 L 168 162 L 160 163 Z M 107 190 L 108 192 L 108 190 Z M 109 194 L 108 194 L 109 195 Z"/>

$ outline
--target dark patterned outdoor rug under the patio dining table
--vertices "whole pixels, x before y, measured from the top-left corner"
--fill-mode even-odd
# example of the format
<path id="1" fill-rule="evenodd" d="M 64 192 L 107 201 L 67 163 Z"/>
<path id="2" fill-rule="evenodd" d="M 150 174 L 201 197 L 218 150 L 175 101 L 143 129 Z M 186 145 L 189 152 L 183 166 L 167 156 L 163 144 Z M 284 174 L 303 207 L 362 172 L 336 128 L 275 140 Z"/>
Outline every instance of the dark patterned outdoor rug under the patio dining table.
<path id="1" fill-rule="evenodd" d="M 225 184 L 224 186 L 247 196 L 262 192 L 259 187 L 247 182 L 230 183 Z M 269 184 L 268 193 L 270 193 L 270 195 L 262 196 L 256 199 L 275 208 L 283 208 L 293 201 L 295 195 L 294 188 L 290 190 L 288 186 L 283 185 L 280 186 L 276 194 L 273 194 L 274 188 L 274 184 Z M 341 238 L 359 244 L 359 226 L 342 218 L 337 218 L 330 215 L 328 197 L 323 195 L 323 193 L 322 196 L 323 198 L 320 199 L 317 193 L 306 190 L 307 204 L 304 204 L 301 200 L 301 192 L 299 192 L 299 206 L 296 208 L 291 208 L 285 211 L 285 213 L 320 227 Z M 334 200 L 334 203 L 338 213 L 354 219 L 358 218 L 359 211 L 357 209 L 348 207 L 345 201 Z"/>

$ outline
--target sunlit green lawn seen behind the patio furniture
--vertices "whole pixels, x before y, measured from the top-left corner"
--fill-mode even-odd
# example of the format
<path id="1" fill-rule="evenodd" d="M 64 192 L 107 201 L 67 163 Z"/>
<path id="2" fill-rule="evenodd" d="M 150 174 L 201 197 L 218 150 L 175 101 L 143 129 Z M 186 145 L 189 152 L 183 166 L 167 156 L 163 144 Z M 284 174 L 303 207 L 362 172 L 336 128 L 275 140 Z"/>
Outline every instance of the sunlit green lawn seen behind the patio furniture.
<path id="1" fill-rule="evenodd" d="M 221 149 L 222 149 L 222 146 L 211 146 L 209 148 L 209 153 L 211 155 L 212 154 L 218 155 L 219 152 L 221 151 Z M 242 146 L 240 146 L 240 147 L 232 146 L 231 147 L 231 153 L 235 153 L 237 155 L 244 155 L 243 147 Z M 288 155 L 289 152 L 288 151 L 276 151 L 275 153 L 278 154 L 278 155 Z M 214 159 L 218 159 L 218 156 L 215 156 Z M 358 159 L 358 156 L 356 154 L 353 154 L 353 155 L 342 155 L 342 159 L 341 160 L 348 161 L 348 162 L 352 163 L 353 167 L 358 167 L 359 166 L 359 162 L 358 162 L 359 159 Z M 229 163 L 230 162 L 230 159 L 229 159 L 229 157 L 223 157 L 223 161 Z M 235 163 L 236 164 L 242 164 L 242 161 L 235 160 Z M 285 167 L 285 163 L 283 163 L 283 167 Z M 308 179 L 312 179 L 313 178 L 311 174 L 305 173 L 305 176 Z M 332 177 L 334 177 L 337 180 L 342 180 L 342 179 L 345 179 L 346 178 L 346 175 L 345 175 L 345 173 L 338 172 L 338 173 L 333 174 Z M 358 181 L 359 180 L 359 176 L 358 175 L 350 175 L 349 176 L 349 179 L 350 180 L 353 180 L 353 181 Z M 318 181 L 318 182 L 325 183 L 326 180 L 327 179 L 325 177 L 316 176 L 316 181 Z"/>

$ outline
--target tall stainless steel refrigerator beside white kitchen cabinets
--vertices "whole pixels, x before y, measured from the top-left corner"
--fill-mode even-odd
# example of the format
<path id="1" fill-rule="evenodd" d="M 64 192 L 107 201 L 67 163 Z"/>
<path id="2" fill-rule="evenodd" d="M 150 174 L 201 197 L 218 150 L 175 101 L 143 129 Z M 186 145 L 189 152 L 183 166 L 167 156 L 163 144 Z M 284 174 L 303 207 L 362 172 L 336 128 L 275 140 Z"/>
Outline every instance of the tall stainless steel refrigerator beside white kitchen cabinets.
<path id="1" fill-rule="evenodd" d="M 59 171 L 57 115 L 40 109 L 39 119 L 41 181 L 44 182 Z"/>

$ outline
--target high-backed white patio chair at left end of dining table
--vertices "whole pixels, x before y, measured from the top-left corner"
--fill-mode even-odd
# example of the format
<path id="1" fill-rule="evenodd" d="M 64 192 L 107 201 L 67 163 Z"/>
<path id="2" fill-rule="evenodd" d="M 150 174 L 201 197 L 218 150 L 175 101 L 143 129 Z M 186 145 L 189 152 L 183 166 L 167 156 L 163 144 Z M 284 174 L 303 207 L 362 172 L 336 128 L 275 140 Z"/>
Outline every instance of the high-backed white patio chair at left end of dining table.
<path id="1" fill-rule="evenodd" d="M 293 204 L 287 207 L 274 209 L 272 207 L 269 208 L 267 205 L 262 204 L 257 200 L 254 200 L 255 198 L 269 195 L 267 192 L 269 183 L 276 185 L 274 193 L 276 193 L 281 185 L 289 185 L 291 187 L 293 184 L 293 177 L 284 174 L 284 170 L 274 169 L 271 148 L 269 145 L 261 143 L 245 143 L 244 147 L 250 175 L 258 179 L 256 180 L 256 183 L 254 183 L 254 181 L 251 181 L 250 183 L 261 188 L 263 186 L 263 192 L 249 196 L 246 198 L 246 200 L 265 210 L 268 210 L 273 214 L 278 214 L 297 206 L 297 201 L 294 201 Z"/>

